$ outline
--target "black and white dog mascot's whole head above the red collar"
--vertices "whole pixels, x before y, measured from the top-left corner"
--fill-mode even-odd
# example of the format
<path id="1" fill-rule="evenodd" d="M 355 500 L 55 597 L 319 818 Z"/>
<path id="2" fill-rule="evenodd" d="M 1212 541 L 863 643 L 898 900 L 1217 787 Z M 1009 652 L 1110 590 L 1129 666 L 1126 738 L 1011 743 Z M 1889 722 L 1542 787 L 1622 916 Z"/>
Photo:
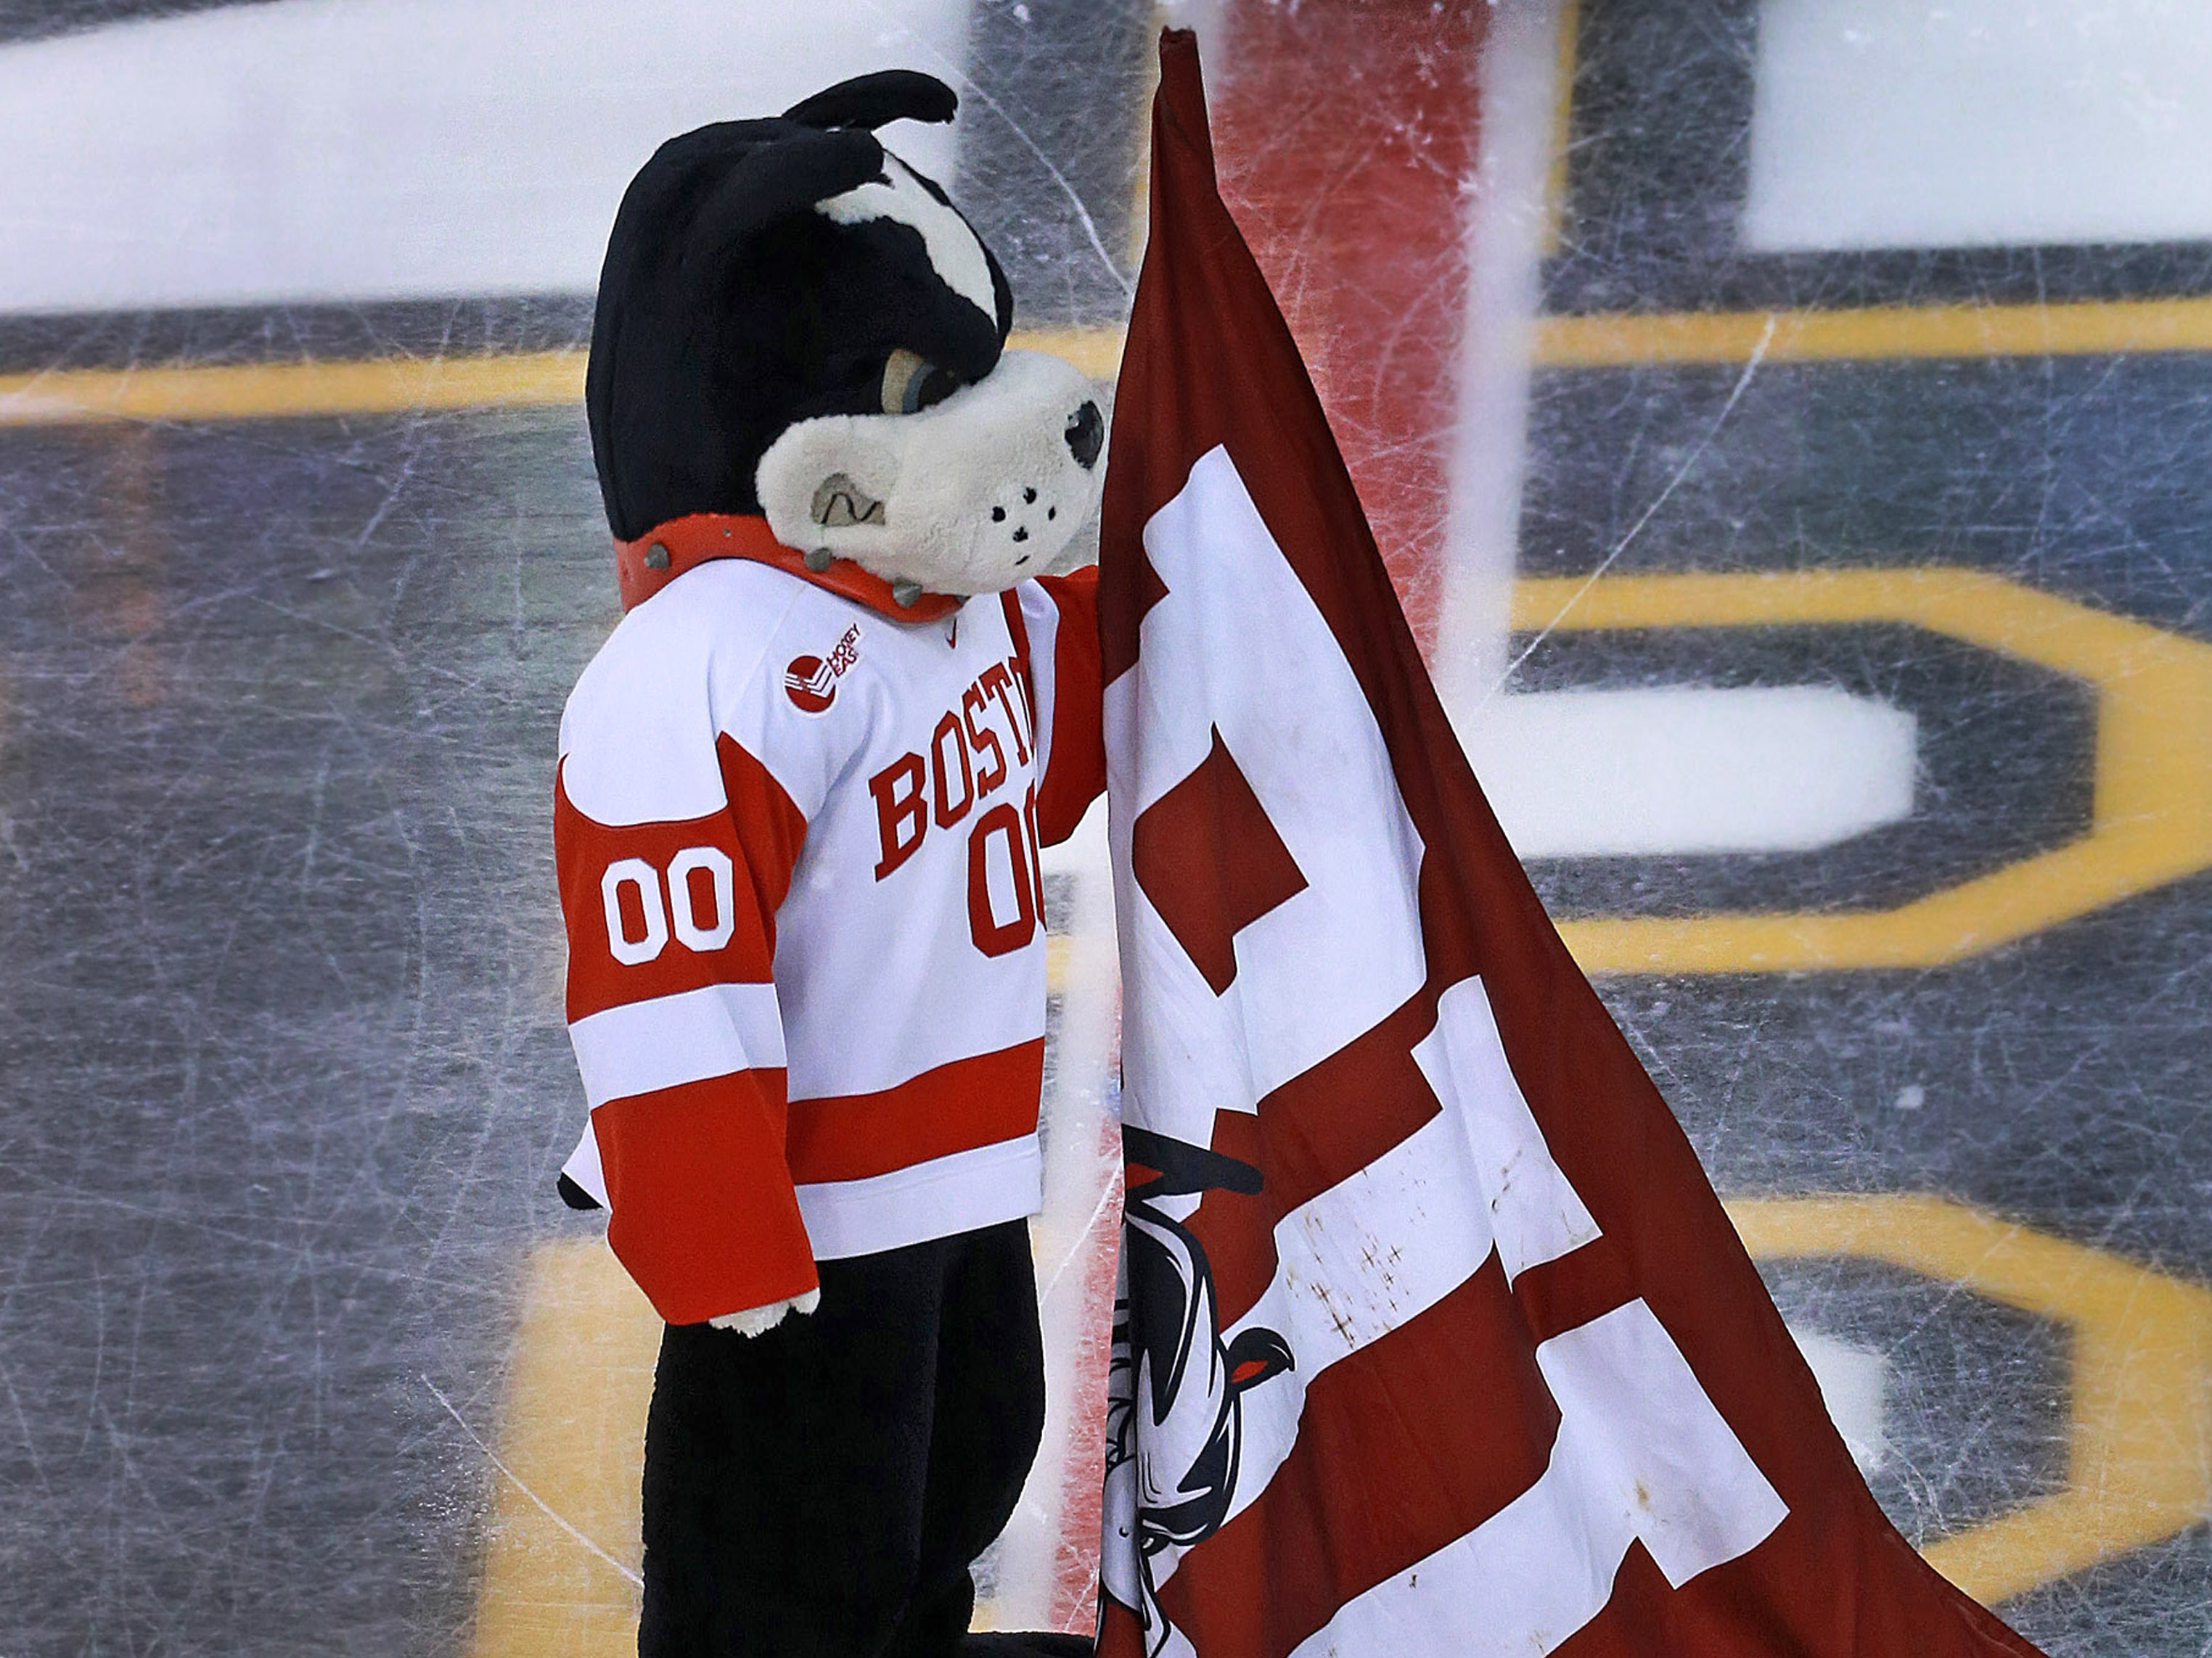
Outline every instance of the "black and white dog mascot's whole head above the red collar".
<path id="1" fill-rule="evenodd" d="M 1000 592 L 1066 548 L 1097 502 L 1091 385 L 1006 349 L 998 259 L 876 139 L 956 102 L 863 75 L 670 139 L 630 181 L 584 391 L 617 542 L 763 515 L 807 568 L 849 559 L 900 604 Z"/>

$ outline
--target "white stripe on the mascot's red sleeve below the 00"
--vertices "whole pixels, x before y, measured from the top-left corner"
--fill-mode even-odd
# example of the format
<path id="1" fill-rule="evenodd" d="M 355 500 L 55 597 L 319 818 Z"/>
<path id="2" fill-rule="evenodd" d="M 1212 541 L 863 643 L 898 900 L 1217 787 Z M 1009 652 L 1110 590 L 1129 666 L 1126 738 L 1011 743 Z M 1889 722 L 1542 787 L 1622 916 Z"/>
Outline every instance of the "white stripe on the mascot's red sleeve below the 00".
<path id="1" fill-rule="evenodd" d="M 772 984 L 708 984 L 630 1001 L 568 1026 L 584 1099 L 681 1088 L 737 1070 L 783 1066 L 783 1017 Z"/>

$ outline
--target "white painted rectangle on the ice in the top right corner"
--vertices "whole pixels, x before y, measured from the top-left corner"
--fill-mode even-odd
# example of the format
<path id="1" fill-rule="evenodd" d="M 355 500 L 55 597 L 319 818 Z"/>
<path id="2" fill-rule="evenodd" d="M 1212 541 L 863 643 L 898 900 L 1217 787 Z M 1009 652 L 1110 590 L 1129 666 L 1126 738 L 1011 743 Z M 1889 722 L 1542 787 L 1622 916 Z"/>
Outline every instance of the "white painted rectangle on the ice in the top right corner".
<path id="1" fill-rule="evenodd" d="M 2203 0 L 1765 0 L 1754 250 L 2212 234 Z"/>

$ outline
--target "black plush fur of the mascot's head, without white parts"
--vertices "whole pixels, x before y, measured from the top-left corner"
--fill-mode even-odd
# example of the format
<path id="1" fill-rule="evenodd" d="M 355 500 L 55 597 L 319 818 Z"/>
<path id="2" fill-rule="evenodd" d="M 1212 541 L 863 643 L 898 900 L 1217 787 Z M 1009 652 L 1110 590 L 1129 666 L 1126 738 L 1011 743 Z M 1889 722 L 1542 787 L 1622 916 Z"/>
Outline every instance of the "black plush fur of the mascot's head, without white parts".
<path id="1" fill-rule="evenodd" d="M 686 513 L 759 513 L 768 444 L 794 420 L 883 413 L 896 347 L 960 380 L 998 365 L 1013 290 L 989 248 L 998 316 L 947 292 L 911 225 L 814 212 L 883 175 L 874 128 L 949 122 L 956 102 L 929 75 L 863 75 L 774 119 L 668 139 L 630 181 L 584 378 L 617 539 Z"/>

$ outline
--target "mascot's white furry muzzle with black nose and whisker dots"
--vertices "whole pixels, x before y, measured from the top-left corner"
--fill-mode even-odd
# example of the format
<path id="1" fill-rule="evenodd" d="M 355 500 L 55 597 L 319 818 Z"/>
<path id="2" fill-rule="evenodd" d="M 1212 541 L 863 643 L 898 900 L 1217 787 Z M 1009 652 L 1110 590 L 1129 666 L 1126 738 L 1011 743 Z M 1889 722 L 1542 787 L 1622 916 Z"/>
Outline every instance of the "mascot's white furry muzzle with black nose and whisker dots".
<path id="1" fill-rule="evenodd" d="M 918 413 L 799 420 L 761 455 L 770 528 L 896 592 L 1004 592 L 1042 575 L 1093 513 L 1104 418 L 1091 382 L 1042 351 L 1006 351 Z"/>

